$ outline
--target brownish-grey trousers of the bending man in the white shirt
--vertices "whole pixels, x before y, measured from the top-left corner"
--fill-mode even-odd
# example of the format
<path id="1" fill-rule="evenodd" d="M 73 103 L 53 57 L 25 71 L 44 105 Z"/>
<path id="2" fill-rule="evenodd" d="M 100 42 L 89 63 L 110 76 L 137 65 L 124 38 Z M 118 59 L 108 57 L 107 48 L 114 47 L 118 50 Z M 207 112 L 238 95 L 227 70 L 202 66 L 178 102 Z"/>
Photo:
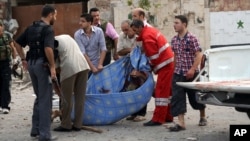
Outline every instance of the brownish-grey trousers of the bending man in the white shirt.
<path id="1" fill-rule="evenodd" d="M 88 70 L 81 71 L 61 82 L 62 95 L 61 97 L 61 110 L 63 128 L 71 129 L 72 122 L 76 128 L 81 128 L 83 108 L 85 101 L 86 86 L 88 80 Z M 75 115 L 73 121 L 71 120 L 71 112 L 73 107 L 72 97 L 74 98 Z"/>

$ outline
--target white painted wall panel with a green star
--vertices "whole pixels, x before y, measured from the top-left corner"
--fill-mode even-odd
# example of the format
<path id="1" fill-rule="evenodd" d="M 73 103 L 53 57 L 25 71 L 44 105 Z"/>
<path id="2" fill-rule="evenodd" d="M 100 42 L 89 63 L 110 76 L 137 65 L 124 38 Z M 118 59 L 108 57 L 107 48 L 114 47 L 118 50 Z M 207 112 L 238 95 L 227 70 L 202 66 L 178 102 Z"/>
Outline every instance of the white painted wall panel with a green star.
<path id="1" fill-rule="evenodd" d="M 250 45 L 250 11 L 210 13 L 210 44 Z"/>

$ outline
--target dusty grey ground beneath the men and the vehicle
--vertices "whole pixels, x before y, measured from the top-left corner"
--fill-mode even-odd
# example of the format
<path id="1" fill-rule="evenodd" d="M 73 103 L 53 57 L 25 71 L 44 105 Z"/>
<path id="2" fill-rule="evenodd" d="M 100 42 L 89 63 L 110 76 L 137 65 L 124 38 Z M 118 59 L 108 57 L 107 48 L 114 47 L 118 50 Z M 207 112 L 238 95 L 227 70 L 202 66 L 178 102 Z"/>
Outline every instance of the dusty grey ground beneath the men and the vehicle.
<path id="1" fill-rule="evenodd" d="M 8 115 L 0 114 L 1 141 L 29 141 L 31 115 L 34 96 L 32 88 L 20 90 L 20 83 L 13 81 L 11 111 Z M 152 117 L 154 99 L 148 104 L 147 120 Z M 199 127 L 199 114 L 190 108 L 186 114 L 187 130 L 172 133 L 164 126 L 144 127 L 143 122 L 121 120 L 113 125 L 98 126 L 103 133 L 82 130 L 80 132 L 58 133 L 59 141 L 229 141 L 230 124 L 249 124 L 250 120 L 244 113 L 233 108 L 207 105 L 208 126 Z M 59 125 L 57 118 L 51 128 Z"/>

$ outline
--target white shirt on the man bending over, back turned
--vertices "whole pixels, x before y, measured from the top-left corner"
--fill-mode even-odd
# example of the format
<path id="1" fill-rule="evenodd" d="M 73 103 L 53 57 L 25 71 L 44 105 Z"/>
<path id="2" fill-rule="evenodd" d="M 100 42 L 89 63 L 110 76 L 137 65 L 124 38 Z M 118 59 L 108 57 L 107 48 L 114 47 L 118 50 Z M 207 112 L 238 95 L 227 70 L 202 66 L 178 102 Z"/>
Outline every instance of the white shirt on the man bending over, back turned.
<path id="1" fill-rule="evenodd" d="M 59 42 L 58 53 L 61 68 L 60 81 L 77 74 L 78 72 L 90 69 L 76 41 L 69 35 L 55 36 Z"/>

